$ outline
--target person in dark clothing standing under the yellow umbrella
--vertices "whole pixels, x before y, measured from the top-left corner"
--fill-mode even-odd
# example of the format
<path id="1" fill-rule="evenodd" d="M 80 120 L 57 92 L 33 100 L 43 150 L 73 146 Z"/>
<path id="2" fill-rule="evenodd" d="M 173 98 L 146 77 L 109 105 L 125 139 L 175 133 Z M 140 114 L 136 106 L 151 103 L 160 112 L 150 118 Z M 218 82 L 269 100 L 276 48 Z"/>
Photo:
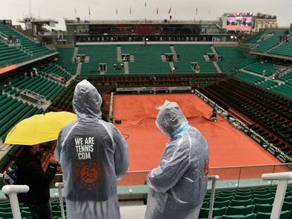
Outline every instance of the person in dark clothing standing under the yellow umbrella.
<path id="1" fill-rule="evenodd" d="M 42 169 L 38 153 L 39 144 L 24 146 L 18 156 L 18 183 L 30 187 L 28 194 L 21 196 L 20 201 L 30 208 L 32 219 L 51 219 L 49 204 L 49 184 L 56 175 L 56 164 L 49 163 L 46 172 Z"/>

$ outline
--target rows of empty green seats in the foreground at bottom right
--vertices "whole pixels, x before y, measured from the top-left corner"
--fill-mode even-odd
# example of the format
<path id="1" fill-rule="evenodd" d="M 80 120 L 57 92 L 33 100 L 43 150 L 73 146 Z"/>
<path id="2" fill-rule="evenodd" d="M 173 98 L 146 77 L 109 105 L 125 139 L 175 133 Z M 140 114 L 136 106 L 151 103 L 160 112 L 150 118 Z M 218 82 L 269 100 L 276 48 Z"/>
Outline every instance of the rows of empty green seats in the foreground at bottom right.
<path id="1" fill-rule="evenodd" d="M 276 193 L 275 187 L 221 190 L 215 193 L 214 218 L 269 218 Z M 292 187 L 286 190 L 280 218 L 291 218 Z M 210 192 L 207 192 L 199 218 L 208 218 Z"/>

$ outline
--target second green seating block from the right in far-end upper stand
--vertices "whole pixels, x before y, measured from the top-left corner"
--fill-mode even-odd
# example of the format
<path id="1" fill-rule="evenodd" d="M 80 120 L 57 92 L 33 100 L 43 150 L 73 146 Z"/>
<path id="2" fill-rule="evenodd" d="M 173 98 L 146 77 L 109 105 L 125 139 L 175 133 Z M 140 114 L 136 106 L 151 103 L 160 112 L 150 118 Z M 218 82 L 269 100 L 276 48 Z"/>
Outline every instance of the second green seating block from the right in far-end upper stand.
<path id="1" fill-rule="evenodd" d="M 175 62 L 177 73 L 193 73 L 192 62 L 200 65 L 200 73 L 218 73 L 212 61 L 206 61 L 205 55 L 213 54 L 208 44 L 174 44 L 179 56 Z"/>

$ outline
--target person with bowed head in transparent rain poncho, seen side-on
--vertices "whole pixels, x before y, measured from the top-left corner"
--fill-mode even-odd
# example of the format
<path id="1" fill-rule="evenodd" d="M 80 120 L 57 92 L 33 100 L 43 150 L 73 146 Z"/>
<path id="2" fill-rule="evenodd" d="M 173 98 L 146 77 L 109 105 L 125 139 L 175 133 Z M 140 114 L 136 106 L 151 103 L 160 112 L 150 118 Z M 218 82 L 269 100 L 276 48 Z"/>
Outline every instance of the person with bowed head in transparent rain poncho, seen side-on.
<path id="1" fill-rule="evenodd" d="M 150 171 L 147 219 L 195 219 L 207 191 L 209 149 L 205 137 L 181 112 L 165 101 L 157 115 L 157 127 L 171 137 L 158 168 Z"/>

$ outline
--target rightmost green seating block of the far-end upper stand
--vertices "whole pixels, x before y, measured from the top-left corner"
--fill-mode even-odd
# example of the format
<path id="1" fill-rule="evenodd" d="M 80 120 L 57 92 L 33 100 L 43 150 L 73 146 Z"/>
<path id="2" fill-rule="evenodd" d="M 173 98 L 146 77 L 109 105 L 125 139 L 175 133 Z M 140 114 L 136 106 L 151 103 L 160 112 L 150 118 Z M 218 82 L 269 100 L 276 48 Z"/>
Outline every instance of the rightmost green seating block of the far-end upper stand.
<path id="1" fill-rule="evenodd" d="M 223 72 L 229 72 L 244 56 L 237 47 L 230 46 L 215 46 L 217 54 L 222 58 L 217 61 L 220 69 Z"/>

